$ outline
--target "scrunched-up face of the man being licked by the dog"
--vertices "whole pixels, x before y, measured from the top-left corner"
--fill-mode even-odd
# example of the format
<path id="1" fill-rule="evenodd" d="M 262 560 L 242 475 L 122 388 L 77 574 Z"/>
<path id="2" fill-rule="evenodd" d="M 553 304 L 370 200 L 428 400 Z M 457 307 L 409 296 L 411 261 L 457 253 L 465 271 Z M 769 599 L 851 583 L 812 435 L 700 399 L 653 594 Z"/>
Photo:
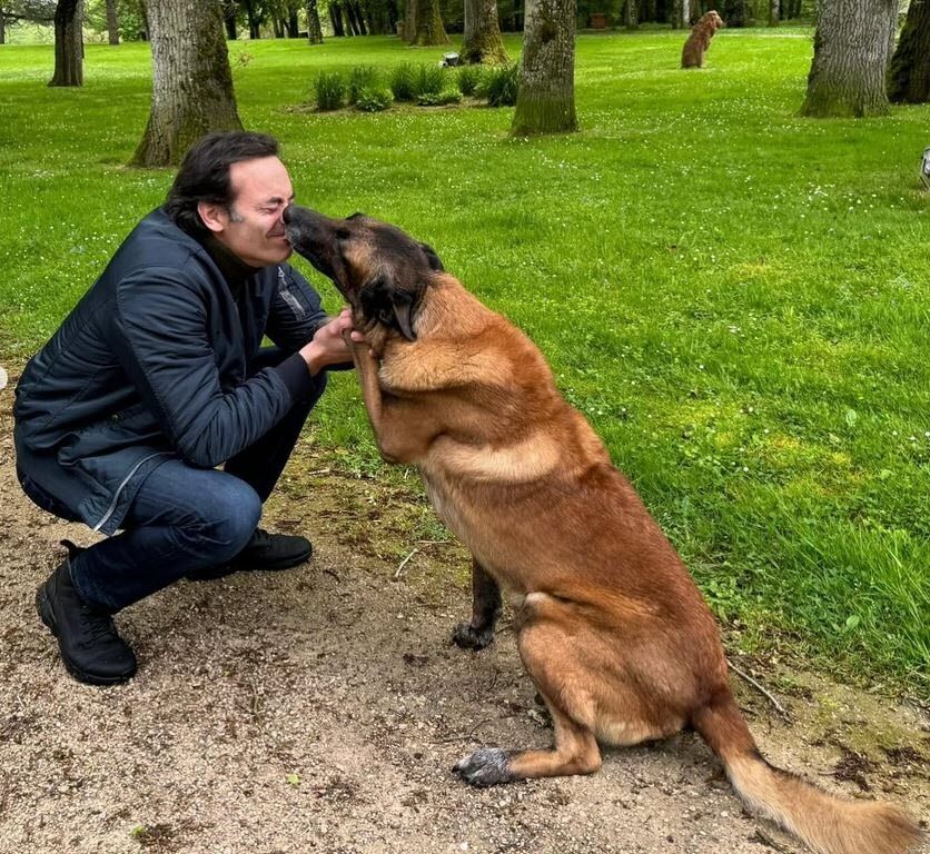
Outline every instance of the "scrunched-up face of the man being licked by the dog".
<path id="1" fill-rule="evenodd" d="M 294 189 L 284 163 L 277 157 L 243 160 L 229 167 L 229 209 L 214 208 L 209 218 L 200 212 L 217 240 L 251 267 L 289 258 L 281 215 L 294 200 Z"/>

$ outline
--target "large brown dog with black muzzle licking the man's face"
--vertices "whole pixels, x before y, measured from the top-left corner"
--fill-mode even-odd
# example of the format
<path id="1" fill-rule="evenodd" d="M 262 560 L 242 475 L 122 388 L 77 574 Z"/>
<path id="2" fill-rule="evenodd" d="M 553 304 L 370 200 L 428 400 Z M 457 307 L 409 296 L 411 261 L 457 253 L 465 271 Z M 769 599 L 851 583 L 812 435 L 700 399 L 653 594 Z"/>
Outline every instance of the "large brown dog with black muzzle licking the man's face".
<path id="1" fill-rule="evenodd" d="M 392 226 L 294 207 L 285 221 L 364 331 L 355 361 L 382 455 L 419 468 L 474 556 L 474 614 L 456 642 L 491 642 L 505 587 L 552 713 L 554 749 L 478 749 L 455 766 L 463 778 L 586 774 L 601 765 L 597 739 L 690 726 L 750 806 L 821 854 L 899 854 L 918 840 L 894 806 L 839 800 L 762 758 L 698 587 L 523 332 Z"/>

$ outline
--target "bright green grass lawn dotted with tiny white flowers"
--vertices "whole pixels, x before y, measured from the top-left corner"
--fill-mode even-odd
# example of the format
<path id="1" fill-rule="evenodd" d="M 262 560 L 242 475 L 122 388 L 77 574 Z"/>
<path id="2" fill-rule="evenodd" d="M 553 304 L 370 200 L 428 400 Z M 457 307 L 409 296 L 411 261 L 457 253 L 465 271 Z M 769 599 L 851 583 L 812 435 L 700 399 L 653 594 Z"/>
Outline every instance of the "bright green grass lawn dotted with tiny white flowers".
<path id="1" fill-rule="evenodd" d="M 537 341 L 739 648 L 927 698 L 930 107 L 804 120 L 810 30 L 725 30 L 696 72 L 676 67 L 681 39 L 581 36 L 583 130 L 532 141 L 507 138 L 511 109 L 289 109 L 320 71 L 388 76 L 438 49 L 230 53 L 240 115 L 283 140 L 299 201 L 397 222 Z M 48 89 L 51 67 L 48 47 L 0 49 L 7 367 L 171 179 L 122 168 L 148 115 L 146 46 L 88 46 L 80 90 Z M 379 470 L 352 377 L 314 440 Z"/>

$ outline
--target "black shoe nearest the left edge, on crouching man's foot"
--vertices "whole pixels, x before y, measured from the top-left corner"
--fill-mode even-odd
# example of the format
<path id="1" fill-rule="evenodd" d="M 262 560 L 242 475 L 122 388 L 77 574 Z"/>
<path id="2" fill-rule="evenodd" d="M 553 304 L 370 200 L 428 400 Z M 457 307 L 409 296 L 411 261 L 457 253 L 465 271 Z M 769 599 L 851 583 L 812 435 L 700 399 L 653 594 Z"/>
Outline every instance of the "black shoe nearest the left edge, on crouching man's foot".
<path id="1" fill-rule="evenodd" d="M 88 605 L 71 580 L 71 558 L 80 550 L 63 540 L 68 557 L 36 592 L 39 616 L 58 638 L 61 661 L 79 682 L 116 685 L 136 675 L 136 655 L 117 634 L 112 615 Z"/>

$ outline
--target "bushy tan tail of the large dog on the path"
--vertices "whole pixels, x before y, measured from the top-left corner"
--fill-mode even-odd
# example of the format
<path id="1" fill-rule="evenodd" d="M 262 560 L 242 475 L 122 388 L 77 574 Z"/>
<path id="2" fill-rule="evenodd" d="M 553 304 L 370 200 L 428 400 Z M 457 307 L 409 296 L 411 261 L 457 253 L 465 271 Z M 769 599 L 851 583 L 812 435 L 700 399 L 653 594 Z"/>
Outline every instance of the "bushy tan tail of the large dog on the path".
<path id="1" fill-rule="evenodd" d="M 898 807 L 843 801 L 771 766 L 729 689 L 692 716 L 692 725 L 720 756 L 746 805 L 780 824 L 818 854 L 904 854 L 920 828 Z"/>

